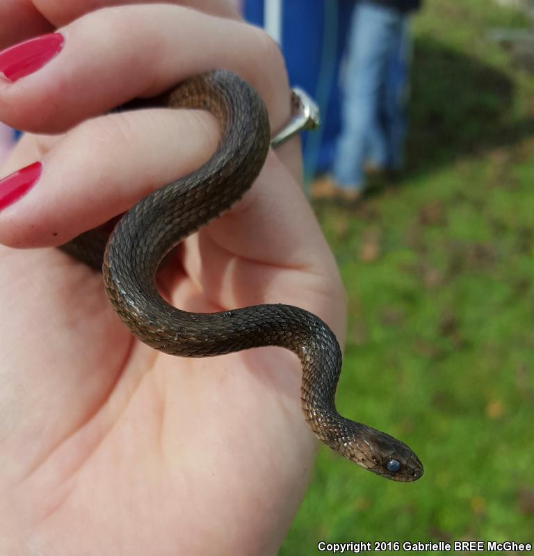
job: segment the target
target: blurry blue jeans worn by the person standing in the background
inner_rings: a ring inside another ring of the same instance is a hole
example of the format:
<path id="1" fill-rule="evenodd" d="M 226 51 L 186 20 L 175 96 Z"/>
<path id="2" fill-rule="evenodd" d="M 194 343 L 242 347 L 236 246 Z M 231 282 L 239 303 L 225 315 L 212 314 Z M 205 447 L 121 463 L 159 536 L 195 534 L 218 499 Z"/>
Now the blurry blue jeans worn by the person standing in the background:
<path id="1" fill-rule="evenodd" d="M 346 51 L 342 129 L 334 179 L 364 188 L 364 163 L 398 169 L 406 131 L 410 35 L 408 17 L 361 0 L 353 10 Z"/>

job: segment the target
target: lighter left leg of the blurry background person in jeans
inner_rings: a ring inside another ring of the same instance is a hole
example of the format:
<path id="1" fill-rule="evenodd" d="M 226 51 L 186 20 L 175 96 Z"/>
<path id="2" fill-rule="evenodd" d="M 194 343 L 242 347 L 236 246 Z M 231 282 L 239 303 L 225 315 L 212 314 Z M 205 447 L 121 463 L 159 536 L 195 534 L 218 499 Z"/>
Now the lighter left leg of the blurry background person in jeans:
<path id="1" fill-rule="evenodd" d="M 343 126 L 334 157 L 334 179 L 341 188 L 364 187 L 363 165 L 370 135 L 374 156 L 387 154 L 378 108 L 397 25 L 396 10 L 366 1 L 355 6 L 346 53 Z"/>

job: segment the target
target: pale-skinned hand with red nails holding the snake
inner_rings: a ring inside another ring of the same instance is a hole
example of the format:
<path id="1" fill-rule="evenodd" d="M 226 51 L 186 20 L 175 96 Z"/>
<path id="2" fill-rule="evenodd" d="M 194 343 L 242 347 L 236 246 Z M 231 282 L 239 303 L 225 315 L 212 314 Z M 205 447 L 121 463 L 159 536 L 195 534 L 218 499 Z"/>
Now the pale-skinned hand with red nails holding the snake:
<path id="1" fill-rule="evenodd" d="M 280 54 L 222 0 L 198 3 L 217 17 L 170 4 L 83 16 L 85 1 L 34 3 L 46 17 L 22 14 L 21 3 L 2 8 L 3 21 L 26 26 L 0 35 L 0 48 L 56 26 L 65 44 L 37 72 L 0 80 L 0 120 L 33 132 L 1 175 L 43 165 L 0 212 L 0 552 L 275 553 L 314 457 L 298 359 L 279 348 L 211 359 L 154 352 L 124 329 L 102 277 L 51 247 L 216 148 L 206 113 L 99 114 L 222 67 L 258 90 L 277 131 L 289 120 Z M 343 288 L 299 166 L 296 141 L 271 153 L 243 201 L 181 245 L 161 277 L 173 304 L 293 304 L 343 340 Z"/>

